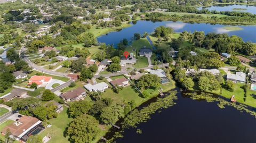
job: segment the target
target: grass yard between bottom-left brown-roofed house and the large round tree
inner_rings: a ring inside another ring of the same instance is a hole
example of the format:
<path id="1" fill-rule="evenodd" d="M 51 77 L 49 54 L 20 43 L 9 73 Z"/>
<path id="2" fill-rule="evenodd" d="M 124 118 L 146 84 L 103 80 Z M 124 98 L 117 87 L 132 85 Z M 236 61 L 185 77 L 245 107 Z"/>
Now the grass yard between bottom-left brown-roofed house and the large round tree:
<path id="1" fill-rule="evenodd" d="M 50 122 L 52 126 L 50 128 L 46 128 L 43 132 L 39 134 L 39 136 L 41 136 L 42 138 L 49 135 L 51 137 L 51 140 L 49 140 L 48 143 L 69 143 L 69 137 L 64 137 L 63 133 L 68 127 L 69 122 L 71 122 L 73 119 L 68 117 L 67 107 L 63 106 L 63 108 L 63 111 L 60 112 L 57 118 L 47 121 Z"/>

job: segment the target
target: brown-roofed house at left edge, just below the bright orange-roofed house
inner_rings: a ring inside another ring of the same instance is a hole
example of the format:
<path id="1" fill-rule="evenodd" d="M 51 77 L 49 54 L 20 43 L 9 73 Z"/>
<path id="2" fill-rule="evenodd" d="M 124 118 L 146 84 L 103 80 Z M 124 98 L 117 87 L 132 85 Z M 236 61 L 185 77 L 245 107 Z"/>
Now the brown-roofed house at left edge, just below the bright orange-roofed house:
<path id="1" fill-rule="evenodd" d="M 11 92 L 9 92 L 8 94 L 1 96 L 0 98 L 4 100 L 4 102 L 9 102 L 10 100 L 12 100 L 15 97 L 22 97 L 22 96 L 26 96 L 27 95 L 27 91 L 23 90 L 23 89 L 19 89 L 19 88 L 14 88 L 12 89 Z"/>

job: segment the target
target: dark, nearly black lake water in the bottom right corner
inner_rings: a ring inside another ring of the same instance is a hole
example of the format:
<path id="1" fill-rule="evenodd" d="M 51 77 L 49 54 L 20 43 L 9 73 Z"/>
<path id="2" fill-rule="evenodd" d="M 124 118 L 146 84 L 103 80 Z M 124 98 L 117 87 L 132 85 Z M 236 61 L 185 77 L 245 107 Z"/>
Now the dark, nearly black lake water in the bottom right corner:
<path id="1" fill-rule="evenodd" d="M 124 131 L 116 142 L 255 142 L 256 119 L 247 113 L 216 103 L 178 95 L 177 105 L 155 113 L 146 123 Z"/>

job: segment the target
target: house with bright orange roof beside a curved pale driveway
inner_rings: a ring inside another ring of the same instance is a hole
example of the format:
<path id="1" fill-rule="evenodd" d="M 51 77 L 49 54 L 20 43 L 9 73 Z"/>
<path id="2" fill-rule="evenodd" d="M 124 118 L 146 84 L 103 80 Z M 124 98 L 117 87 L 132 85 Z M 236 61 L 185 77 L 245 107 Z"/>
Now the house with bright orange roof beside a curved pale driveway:
<path id="1" fill-rule="evenodd" d="M 34 75 L 28 79 L 28 85 L 31 85 L 33 82 L 37 84 L 38 87 L 46 86 L 52 80 L 52 77 L 46 77 L 44 75 Z"/>

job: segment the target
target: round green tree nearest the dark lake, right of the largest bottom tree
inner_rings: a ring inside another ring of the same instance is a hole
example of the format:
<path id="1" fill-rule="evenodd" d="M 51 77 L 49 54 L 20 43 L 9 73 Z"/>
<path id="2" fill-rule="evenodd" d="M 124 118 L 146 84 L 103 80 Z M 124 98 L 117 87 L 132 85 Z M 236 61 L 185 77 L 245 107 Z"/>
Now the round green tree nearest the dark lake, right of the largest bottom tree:
<path id="1" fill-rule="evenodd" d="M 121 111 L 122 107 L 116 104 L 105 107 L 102 109 L 100 120 L 105 124 L 114 124 L 120 117 L 122 117 Z"/>

